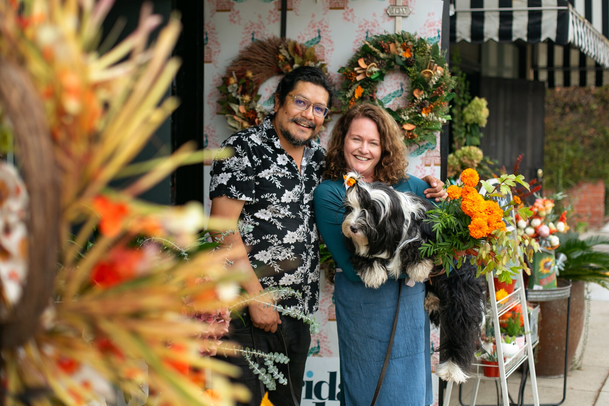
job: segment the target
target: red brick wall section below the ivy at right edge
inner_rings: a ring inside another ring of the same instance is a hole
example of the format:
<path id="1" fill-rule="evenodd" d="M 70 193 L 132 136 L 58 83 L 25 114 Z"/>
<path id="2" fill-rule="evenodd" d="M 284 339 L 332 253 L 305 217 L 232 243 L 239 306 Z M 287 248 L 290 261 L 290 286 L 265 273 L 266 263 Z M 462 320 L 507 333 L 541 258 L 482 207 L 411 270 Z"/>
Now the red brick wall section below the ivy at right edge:
<path id="1" fill-rule="evenodd" d="M 574 215 L 567 219 L 569 226 L 574 227 L 579 221 L 585 221 L 589 227 L 600 228 L 605 225 L 605 182 L 580 182 L 567 192 Z"/>

